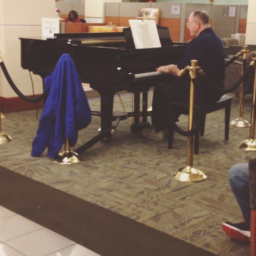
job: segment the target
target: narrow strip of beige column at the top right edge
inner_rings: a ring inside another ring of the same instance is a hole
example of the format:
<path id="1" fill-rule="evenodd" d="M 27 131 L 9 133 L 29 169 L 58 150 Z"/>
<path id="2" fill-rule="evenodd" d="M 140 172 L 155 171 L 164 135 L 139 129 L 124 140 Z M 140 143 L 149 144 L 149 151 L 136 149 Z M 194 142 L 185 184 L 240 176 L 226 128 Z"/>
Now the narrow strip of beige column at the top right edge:
<path id="1" fill-rule="evenodd" d="M 256 1 L 249 0 L 245 44 L 256 45 Z"/>

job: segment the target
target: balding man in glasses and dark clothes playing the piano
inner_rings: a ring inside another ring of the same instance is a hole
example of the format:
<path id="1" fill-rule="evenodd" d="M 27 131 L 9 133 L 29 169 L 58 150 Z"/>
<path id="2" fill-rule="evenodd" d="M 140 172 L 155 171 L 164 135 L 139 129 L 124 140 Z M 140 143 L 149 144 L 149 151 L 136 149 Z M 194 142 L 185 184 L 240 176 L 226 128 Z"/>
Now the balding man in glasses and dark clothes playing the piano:
<path id="1" fill-rule="evenodd" d="M 219 87 L 224 88 L 225 75 L 225 54 L 222 41 L 213 32 L 209 24 L 209 15 L 205 10 L 195 10 L 188 18 L 187 23 L 190 35 L 193 39 L 188 44 L 184 55 L 177 65 L 160 66 L 158 72 L 169 73 L 171 80 L 181 69 L 191 65 L 191 60 L 198 60 L 198 66 L 204 71 L 206 76 Z M 165 128 L 168 127 L 167 101 L 170 84 L 156 86 L 152 101 L 152 126 L 150 129 L 143 129 L 145 138 L 162 141 L 166 136 Z M 205 102 L 216 102 L 223 95 L 220 90 L 213 88 L 207 83 L 203 83 L 203 96 Z M 175 92 L 175 102 L 189 103 L 190 76 L 186 74 L 180 79 Z M 180 114 L 175 113 L 178 118 Z"/>

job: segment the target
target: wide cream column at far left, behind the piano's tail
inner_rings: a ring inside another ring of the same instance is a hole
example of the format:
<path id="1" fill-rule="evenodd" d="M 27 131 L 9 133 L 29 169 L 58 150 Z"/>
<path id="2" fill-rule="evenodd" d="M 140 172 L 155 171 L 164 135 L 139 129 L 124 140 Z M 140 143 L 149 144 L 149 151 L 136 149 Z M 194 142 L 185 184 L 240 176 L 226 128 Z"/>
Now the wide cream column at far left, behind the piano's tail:
<path id="1" fill-rule="evenodd" d="M 28 70 L 21 68 L 19 37 L 42 35 L 42 18 L 55 18 L 55 0 L 0 0 L 0 56 L 20 91 L 32 94 Z M 40 49 L 38 49 L 40 51 Z M 33 75 L 35 94 L 42 93 L 42 79 Z M 17 97 L 0 69 L 0 96 Z"/>

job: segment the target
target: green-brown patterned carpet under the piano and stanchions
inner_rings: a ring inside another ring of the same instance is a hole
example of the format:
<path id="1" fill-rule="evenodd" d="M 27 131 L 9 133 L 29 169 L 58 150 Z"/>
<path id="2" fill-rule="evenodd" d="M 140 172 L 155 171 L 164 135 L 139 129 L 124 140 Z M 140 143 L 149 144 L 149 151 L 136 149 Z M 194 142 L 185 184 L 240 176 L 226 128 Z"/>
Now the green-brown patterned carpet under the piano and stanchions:
<path id="1" fill-rule="evenodd" d="M 130 111 L 131 95 L 121 97 L 126 111 Z M 231 120 L 239 115 L 238 101 L 232 101 Z M 245 97 L 244 117 L 248 120 L 251 101 L 251 95 Z M 99 110 L 98 98 L 90 99 L 89 103 L 91 109 Z M 122 110 L 118 97 L 114 109 Z M 180 117 L 180 126 L 186 127 L 186 118 Z M 250 128 L 231 126 L 229 141 L 224 141 L 224 110 L 206 117 L 205 135 L 200 138 L 199 154 L 194 155 L 193 165 L 208 178 L 197 183 L 172 177 L 178 168 L 186 166 L 187 160 L 187 139 L 178 134 L 174 134 L 173 149 L 168 150 L 167 141 L 154 142 L 141 134 L 131 134 L 130 123 L 123 120 L 111 143 L 98 142 L 80 155 L 82 162 L 68 166 L 54 164 L 46 152 L 40 158 L 30 156 L 38 127 L 35 110 L 9 113 L 1 122 L 2 132 L 14 138 L 0 145 L 3 167 L 219 256 L 249 255 L 250 244 L 230 239 L 221 224 L 225 220 L 242 220 L 228 184 L 228 170 L 233 164 L 248 161 L 255 153 L 237 148 L 249 137 Z M 99 125 L 100 119 L 94 116 L 88 128 L 79 132 L 76 148 L 95 136 Z"/>

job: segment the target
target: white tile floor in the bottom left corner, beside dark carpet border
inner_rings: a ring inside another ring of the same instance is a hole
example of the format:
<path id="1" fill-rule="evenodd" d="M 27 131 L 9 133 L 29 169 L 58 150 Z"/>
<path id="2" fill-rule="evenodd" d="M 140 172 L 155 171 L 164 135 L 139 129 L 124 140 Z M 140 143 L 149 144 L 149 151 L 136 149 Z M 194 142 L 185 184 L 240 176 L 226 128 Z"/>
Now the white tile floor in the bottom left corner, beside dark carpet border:
<path id="1" fill-rule="evenodd" d="M 0 256 L 99 256 L 0 206 Z"/>

